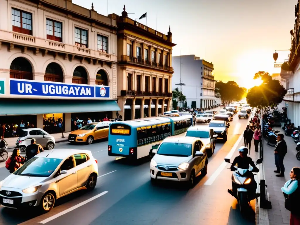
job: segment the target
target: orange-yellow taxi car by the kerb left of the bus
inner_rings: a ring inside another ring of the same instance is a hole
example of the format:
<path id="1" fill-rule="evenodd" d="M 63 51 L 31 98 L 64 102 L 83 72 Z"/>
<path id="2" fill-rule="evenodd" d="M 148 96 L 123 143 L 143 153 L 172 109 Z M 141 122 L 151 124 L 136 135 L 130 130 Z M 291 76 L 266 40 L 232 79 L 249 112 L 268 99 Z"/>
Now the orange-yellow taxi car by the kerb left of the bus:
<path id="1" fill-rule="evenodd" d="M 86 142 L 91 144 L 94 140 L 108 138 L 109 126 L 113 122 L 94 122 L 87 124 L 69 134 L 69 142 Z"/>

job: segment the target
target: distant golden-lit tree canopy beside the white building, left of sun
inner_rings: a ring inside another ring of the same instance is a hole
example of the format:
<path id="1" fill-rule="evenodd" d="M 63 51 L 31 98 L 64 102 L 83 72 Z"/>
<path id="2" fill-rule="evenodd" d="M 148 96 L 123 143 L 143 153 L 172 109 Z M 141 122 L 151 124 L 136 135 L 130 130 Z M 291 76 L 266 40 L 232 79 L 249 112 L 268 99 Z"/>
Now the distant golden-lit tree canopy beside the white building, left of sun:
<path id="1" fill-rule="evenodd" d="M 215 89 L 220 94 L 223 103 L 240 101 L 245 93 L 245 88 L 239 87 L 234 81 L 216 82 Z"/>

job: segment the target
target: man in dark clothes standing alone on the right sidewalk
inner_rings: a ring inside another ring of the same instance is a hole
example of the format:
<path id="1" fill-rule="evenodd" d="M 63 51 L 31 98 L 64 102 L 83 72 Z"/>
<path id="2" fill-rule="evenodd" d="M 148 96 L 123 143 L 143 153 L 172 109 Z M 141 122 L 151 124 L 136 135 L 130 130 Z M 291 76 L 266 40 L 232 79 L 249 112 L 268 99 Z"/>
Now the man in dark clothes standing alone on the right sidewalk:
<path id="1" fill-rule="evenodd" d="M 274 170 L 274 173 L 280 173 L 276 175 L 277 177 L 284 176 L 284 165 L 283 158 L 287 153 L 287 146 L 285 140 L 283 140 L 284 135 L 277 135 L 277 144 L 275 145 L 274 155 L 275 155 L 275 165 L 277 170 Z"/>

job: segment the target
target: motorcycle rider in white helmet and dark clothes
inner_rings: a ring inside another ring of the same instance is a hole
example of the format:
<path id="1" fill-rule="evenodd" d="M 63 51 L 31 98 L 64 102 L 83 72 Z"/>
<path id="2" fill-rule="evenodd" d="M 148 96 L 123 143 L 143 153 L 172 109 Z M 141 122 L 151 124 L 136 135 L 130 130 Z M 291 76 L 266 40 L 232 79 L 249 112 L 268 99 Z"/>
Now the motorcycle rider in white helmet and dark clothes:
<path id="1" fill-rule="evenodd" d="M 248 148 L 241 146 L 238 149 L 239 152 L 239 156 L 235 157 L 235 159 L 232 162 L 232 165 L 230 167 L 231 171 L 235 171 L 236 169 L 234 168 L 234 166 L 237 166 L 238 168 L 241 169 L 249 169 L 249 164 L 253 167 L 253 170 L 255 171 L 255 164 L 252 160 L 251 157 L 247 156 L 248 155 Z M 254 179 L 254 175 L 251 171 L 247 171 L 245 174 L 245 176 L 249 177 L 251 179 L 250 184 L 247 185 L 247 189 L 249 190 L 250 193 L 256 194 L 256 187 L 257 187 L 257 183 Z M 235 183 L 232 183 L 232 195 L 235 196 L 236 195 L 236 187 L 235 187 Z"/>

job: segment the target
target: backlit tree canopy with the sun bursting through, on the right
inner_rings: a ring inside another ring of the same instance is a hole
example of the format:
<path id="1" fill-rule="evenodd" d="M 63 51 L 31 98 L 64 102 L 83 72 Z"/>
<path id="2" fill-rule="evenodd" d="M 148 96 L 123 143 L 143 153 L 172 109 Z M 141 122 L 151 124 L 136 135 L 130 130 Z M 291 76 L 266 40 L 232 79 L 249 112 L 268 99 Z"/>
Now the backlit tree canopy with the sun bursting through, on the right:
<path id="1" fill-rule="evenodd" d="M 262 79 L 262 84 L 250 88 L 247 93 L 247 103 L 251 107 L 270 107 L 276 106 L 286 94 L 286 89 L 278 80 L 273 80 L 268 72 L 259 71 L 255 73 L 253 79 Z"/>

